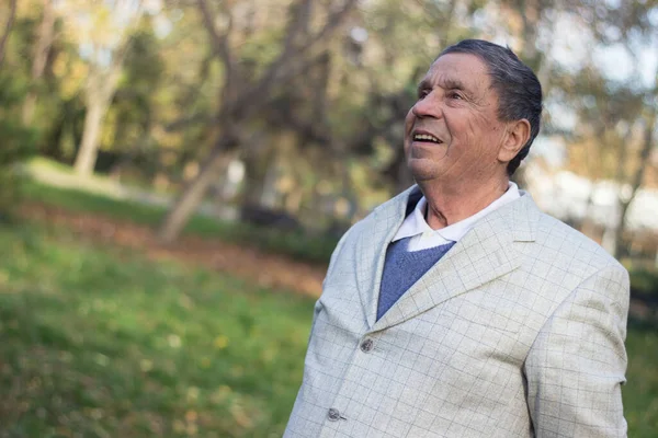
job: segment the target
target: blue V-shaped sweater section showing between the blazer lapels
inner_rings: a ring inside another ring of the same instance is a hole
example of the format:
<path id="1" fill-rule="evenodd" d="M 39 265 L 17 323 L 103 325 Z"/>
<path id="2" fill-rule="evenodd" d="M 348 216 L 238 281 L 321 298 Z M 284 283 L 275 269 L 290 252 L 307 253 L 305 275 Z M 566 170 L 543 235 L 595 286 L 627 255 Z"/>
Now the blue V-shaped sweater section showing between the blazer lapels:
<path id="1" fill-rule="evenodd" d="M 377 320 L 436 262 L 453 247 L 455 242 L 421 251 L 407 251 L 411 238 L 400 239 L 388 245 L 384 274 L 379 288 Z"/>

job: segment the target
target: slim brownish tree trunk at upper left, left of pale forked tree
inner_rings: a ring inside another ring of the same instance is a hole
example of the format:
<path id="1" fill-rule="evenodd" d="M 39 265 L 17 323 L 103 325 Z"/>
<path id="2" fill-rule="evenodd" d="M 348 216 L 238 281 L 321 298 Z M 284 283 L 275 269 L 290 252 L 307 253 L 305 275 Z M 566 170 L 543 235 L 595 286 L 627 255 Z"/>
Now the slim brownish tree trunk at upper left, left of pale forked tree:
<path id="1" fill-rule="evenodd" d="M 34 108 L 37 100 L 35 83 L 44 74 L 54 38 L 55 11 L 53 9 L 53 0 L 44 0 L 44 15 L 38 28 L 38 39 L 34 50 L 34 62 L 32 64 L 32 84 L 23 103 L 23 124 L 25 125 L 32 123 L 32 118 L 34 117 Z"/>

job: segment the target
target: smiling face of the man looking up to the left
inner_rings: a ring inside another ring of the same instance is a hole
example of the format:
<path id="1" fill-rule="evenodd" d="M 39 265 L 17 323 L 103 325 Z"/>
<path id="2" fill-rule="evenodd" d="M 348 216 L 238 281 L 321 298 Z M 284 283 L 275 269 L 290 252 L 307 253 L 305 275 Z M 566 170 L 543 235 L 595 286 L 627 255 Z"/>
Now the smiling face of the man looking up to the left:
<path id="1" fill-rule="evenodd" d="M 504 163 L 497 158 L 506 124 L 497 112 L 497 93 L 478 57 L 449 54 L 436 59 L 406 118 L 405 153 L 416 181 L 467 186 L 500 172 Z"/>

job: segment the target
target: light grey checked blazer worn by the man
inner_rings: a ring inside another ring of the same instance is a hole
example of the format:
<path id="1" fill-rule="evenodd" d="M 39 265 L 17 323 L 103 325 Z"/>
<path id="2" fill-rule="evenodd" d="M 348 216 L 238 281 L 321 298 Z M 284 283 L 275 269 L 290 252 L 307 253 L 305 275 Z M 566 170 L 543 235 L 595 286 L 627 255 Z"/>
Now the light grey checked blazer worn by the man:
<path id="1" fill-rule="evenodd" d="M 622 437 L 628 276 L 522 192 L 376 321 L 411 187 L 339 242 L 285 437 Z"/>

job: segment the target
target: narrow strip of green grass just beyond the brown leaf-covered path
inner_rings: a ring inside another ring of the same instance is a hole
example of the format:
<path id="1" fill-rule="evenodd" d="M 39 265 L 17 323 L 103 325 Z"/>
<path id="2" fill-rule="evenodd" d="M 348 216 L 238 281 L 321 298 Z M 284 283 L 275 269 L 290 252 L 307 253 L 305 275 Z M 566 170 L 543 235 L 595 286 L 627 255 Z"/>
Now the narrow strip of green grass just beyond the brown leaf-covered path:
<path id="1" fill-rule="evenodd" d="M 63 207 L 70 211 L 101 214 L 151 227 L 157 227 L 166 214 L 162 207 L 112 199 L 77 189 L 52 187 L 34 181 L 26 182 L 23 193 L 27 200 Z M 219 238 L 226 242 L 257 246 L 272 253 L 320 264 L 329 262 L 338 243 L 336 238 L 224 222 L 201 215 L 194 216 L 183 232 Z"/>

